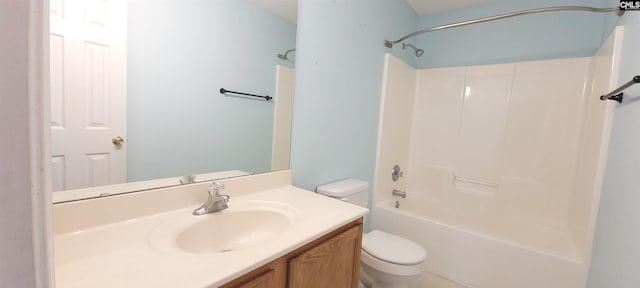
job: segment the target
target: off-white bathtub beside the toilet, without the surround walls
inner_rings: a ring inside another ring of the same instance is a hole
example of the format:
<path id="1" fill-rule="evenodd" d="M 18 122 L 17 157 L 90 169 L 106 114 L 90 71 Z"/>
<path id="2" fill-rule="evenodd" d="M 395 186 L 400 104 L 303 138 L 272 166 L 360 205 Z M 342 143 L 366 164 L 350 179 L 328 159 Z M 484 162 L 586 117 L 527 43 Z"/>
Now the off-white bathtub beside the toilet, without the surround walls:
<path id="1" fill-rule="evenodd" d="M 427 251 L 429 272 L 473 288 L 583 288 L 588 265 L 571 233 L 491 217 L 465 217 L 428 199 L 377 203 L 372 228 Z M 419 209 L 418 209 L 419 208 Z"/>

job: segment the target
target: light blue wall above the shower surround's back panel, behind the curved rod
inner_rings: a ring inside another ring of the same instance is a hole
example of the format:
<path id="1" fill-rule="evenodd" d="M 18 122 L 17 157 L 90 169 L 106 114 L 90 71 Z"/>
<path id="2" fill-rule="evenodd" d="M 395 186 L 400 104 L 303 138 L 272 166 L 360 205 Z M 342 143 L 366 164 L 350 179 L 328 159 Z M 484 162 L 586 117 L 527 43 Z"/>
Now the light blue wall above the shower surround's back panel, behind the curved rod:
<path id="1" fill-rule="evenodd" d="M 550 6 L 608 7 L 603 0 L 502 0 L 420 17 L 419 29 Z M 615 6 L 615 5 L 612 5 Z M 423 34 L 417 68 L 506 63 L 591 56 L 600 48 L 605 19 L 615 14 L 551 12 Z M 419 30 L 418 29 L 418 30 Z M 607 33 L 608 35 L 608 33 Z"/>

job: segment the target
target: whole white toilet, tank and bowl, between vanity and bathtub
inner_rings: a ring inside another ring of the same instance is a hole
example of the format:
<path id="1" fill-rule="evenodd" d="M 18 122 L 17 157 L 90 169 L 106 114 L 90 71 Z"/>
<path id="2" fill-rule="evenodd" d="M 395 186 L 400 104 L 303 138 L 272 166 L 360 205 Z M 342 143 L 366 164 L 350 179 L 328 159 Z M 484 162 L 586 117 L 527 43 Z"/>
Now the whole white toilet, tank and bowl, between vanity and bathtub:
<path id="1" fill-rule="evenodd" d="M 367 207 L 369 183 L 347 179 L 319 186 L 322 195 Z M 408 288 L 425 270 L 427 254 L 420 245 L 379 230 L 362 238 L 360 280 L 372 288 Z"/>

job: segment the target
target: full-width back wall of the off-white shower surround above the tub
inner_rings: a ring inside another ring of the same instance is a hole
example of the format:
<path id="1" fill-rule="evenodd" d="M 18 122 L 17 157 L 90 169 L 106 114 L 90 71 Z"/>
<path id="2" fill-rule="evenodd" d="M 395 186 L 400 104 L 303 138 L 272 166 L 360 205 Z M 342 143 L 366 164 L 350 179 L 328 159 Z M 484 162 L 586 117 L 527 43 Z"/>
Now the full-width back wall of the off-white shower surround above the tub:
<path id="1" fill-rule="evenodd" d="M 408 190 L 461 218 L 565 228 L 589 61 L 418 71 Z"/>

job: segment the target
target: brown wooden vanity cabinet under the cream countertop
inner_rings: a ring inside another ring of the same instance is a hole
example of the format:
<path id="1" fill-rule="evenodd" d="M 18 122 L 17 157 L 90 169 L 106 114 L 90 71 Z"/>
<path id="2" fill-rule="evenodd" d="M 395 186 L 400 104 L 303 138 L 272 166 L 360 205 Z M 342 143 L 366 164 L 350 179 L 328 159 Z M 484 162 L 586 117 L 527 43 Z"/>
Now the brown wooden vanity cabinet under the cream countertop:
<path id="1" fill-rule="evenodd" d="M 357 288 L 361 247 L 359 219 L 222 288 Z"/>

